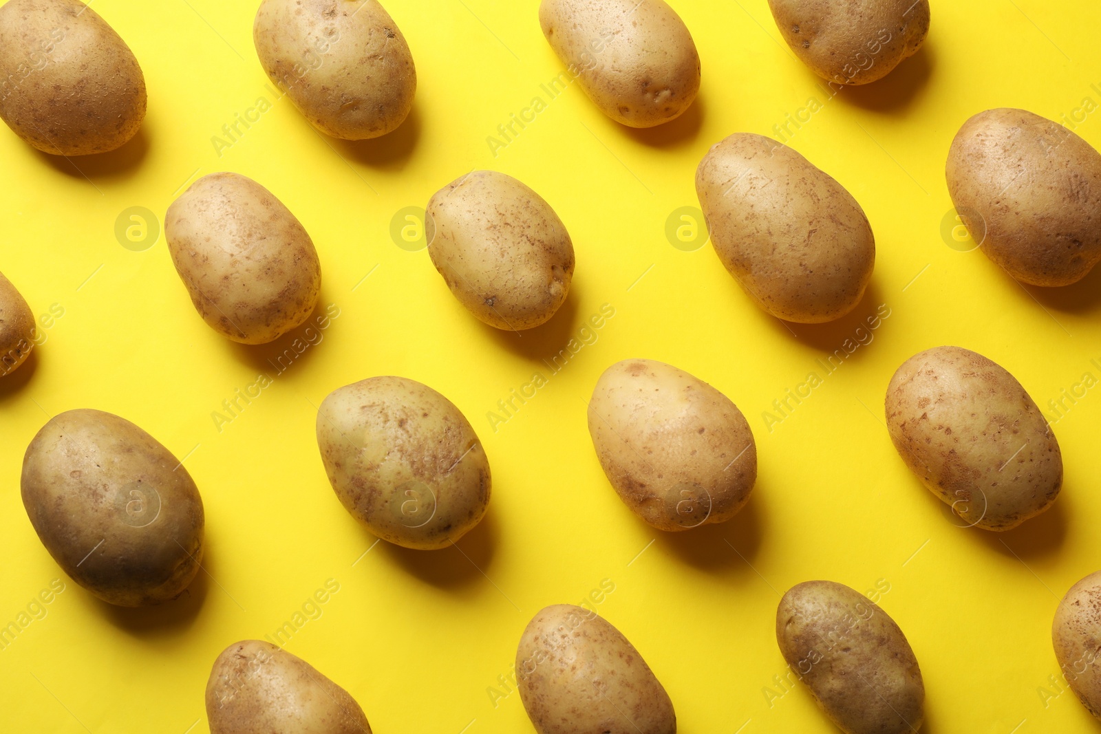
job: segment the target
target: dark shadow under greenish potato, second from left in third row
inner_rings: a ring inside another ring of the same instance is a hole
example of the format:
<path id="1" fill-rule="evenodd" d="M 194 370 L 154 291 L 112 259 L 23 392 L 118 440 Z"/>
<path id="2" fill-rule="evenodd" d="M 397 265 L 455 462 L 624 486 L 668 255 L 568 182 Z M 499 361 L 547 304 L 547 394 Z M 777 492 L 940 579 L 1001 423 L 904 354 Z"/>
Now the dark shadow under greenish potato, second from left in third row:
<path id="1" fill-rule="evenodd" d="M 422 581 L 440 589 L 457 589 L 488 578 L 483 573 L 493 562 L 499 540 L 497 516 L 490 504 L 481 522 L 446 548 L 415 550 L 385 540 L 380 547 L 383 555 Z"/>

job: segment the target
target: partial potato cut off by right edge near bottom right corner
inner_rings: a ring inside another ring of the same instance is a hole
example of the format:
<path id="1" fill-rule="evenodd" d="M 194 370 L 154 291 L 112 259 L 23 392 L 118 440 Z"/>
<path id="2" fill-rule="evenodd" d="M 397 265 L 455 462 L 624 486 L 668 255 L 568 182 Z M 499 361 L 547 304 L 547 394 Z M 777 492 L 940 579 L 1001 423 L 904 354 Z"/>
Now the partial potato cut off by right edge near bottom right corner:
<path id="1" fill-rule="evenodd" d="M 1076 583 L 1059 602 L 1051 645 L 1062 677 L 1082 705 L 1101 719 L 1101 571 Z"/>

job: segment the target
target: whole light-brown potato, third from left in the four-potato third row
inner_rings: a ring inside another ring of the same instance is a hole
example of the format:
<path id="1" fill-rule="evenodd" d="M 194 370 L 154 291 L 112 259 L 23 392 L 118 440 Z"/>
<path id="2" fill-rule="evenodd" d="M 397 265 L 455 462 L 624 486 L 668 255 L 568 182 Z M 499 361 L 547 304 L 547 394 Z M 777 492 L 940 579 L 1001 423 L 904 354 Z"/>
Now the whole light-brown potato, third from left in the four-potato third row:
<path id="1" fill-rule="evenodd" d="M 756 481 L 756 443 L 738 406 L 663 362 L 604 370 L 589 402 L 589 435 L 620 499 L 661 530 L 727 522 Z"/>

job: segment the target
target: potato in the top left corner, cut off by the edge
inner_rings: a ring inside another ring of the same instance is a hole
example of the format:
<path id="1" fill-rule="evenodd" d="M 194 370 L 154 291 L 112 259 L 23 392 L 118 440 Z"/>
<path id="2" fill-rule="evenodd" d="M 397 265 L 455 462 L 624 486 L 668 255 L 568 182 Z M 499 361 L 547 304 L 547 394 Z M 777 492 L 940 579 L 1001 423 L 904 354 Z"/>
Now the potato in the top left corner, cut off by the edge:
<path id="1" fill-rule="evenodd" d="M 0 8 L 0 118 L 44 153 L 113 151 L 145 119 L 145 77 L 83 2 L 10 0 Z"/>

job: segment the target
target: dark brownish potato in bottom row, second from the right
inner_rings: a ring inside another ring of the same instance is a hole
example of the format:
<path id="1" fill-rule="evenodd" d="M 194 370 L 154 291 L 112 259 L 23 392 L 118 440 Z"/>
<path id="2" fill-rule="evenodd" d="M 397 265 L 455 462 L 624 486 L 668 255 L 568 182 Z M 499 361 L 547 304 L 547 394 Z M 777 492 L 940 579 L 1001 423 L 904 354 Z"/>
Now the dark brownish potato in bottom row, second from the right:
<path id="1" fill-rule="evenodd" d="M 818 705 L 846 734 L 916 732 L 925 683 L 886 612 L 833 581 L 792 587 L 776 609 L 776 643 Z"/>

